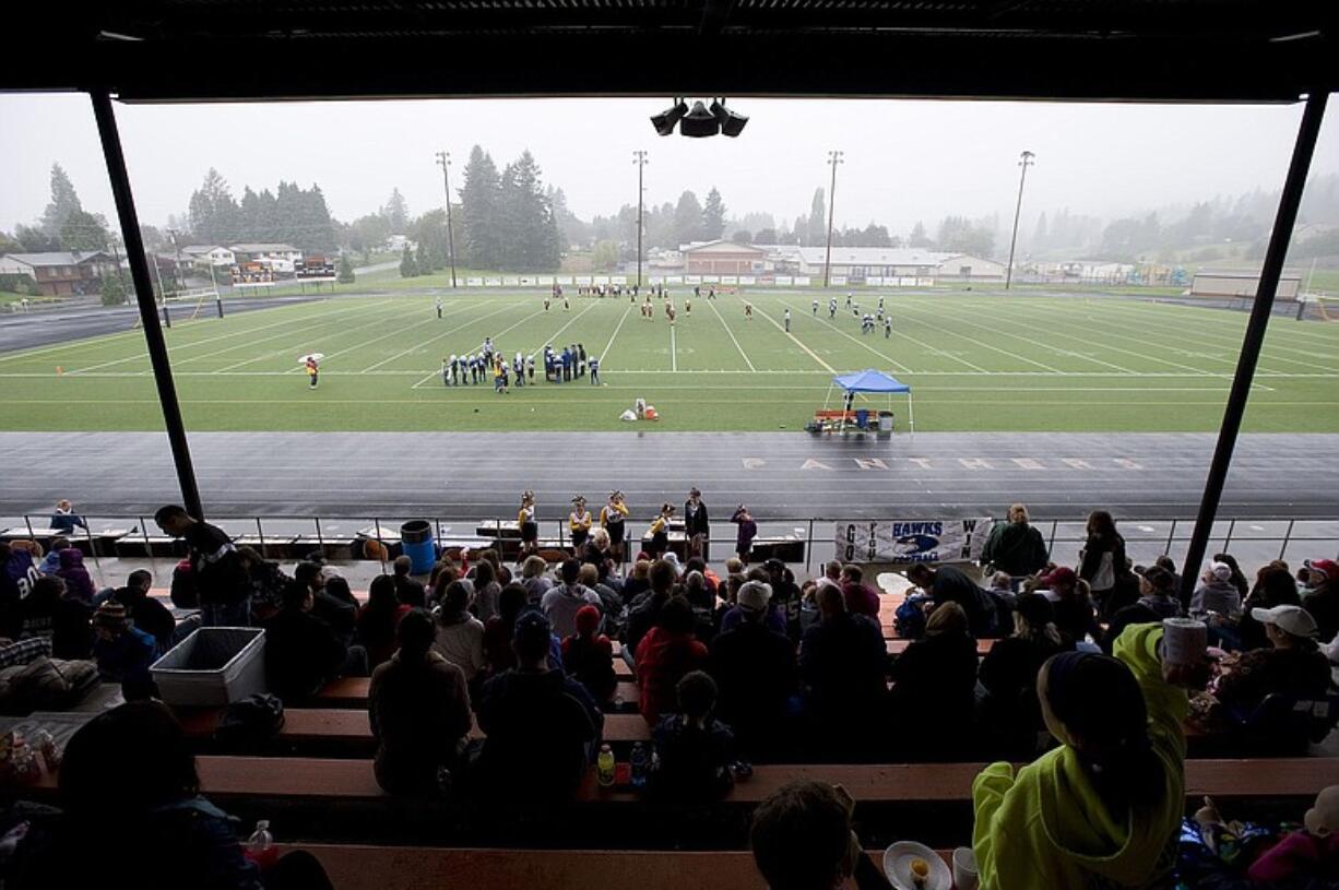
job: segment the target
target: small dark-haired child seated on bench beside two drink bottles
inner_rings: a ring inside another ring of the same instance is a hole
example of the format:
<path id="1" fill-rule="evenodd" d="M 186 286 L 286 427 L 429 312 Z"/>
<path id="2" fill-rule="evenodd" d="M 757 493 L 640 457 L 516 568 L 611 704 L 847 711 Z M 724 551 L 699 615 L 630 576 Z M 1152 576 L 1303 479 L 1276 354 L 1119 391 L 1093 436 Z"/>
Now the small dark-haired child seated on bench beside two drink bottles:
<path id="1" fill-rule="evenodd" d="M 734 786 L 731 772 L 735 736 L 712 717 L 716 683 L 703 671 L 691 671 L 675 687 L 679 707 L 652 732 L 657 763 L 651 790 L 657 798 L 707 803 Z"/>

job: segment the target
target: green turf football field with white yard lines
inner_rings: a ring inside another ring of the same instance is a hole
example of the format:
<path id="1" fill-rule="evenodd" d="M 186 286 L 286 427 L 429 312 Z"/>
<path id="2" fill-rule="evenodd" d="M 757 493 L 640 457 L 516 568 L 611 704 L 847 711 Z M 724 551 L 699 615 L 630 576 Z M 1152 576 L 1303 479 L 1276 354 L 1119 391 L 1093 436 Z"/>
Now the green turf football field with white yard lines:
<path id="1" fill-rule="evenodd" d="M 445 292 L 438 320 L 432 292 L 340 294 L 165 333 L 191 430 L 629 430 L 619 415 L 637 396 L 663 418 L 640 430 L 801 430 L 834 372 L 880 368 L 913 387 L 920 431 L 1198 431 L 1217 428 L 1247 321 L 1119 297 L 923 292 L 889 293 L 892 337 L 862 336 L 834 293 L 832 321 L 825 294 L 781 290 L 749 293 L 746 320 L 740 296 L 688 313 L 679 288 L 672 327 L 660 301 L 648 321 L 627 297 L 546 312 L 533 290 Z M 485 336 L 507 356 L 580 341 L 604 383 L 443 387 L 441 360 Z M 308 351 L 325 353 L 316 391 L 296 361 Z M 4 430 L 162 426 L 139 331 L 0 355 L 0 381 Z M 893 410 L 905 428 L 905 397 Z M 1339 431 L 1339 324 L 1271 321 L 1245 426 Z"/>

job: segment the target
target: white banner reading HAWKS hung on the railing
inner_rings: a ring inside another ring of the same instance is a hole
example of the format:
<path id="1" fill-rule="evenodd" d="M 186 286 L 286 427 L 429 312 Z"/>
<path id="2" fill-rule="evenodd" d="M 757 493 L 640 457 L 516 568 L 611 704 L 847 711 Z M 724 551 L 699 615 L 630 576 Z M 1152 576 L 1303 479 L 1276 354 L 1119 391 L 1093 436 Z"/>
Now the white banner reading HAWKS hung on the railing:
<path id="1" fill-rule="evenodd" d="M 890 519 L 838 522 L 833 529 L 841 562 L 972 562 L 991 533 L 990 517 L 979 519 Z"/>

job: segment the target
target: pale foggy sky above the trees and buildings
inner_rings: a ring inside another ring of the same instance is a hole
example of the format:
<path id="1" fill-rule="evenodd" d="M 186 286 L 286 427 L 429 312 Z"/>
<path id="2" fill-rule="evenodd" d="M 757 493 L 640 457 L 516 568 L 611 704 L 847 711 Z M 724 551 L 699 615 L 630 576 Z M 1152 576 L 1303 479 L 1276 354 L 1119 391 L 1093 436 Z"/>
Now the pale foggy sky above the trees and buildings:
<path id="1" fill-rule="evenodd" d="M 636 203 L 632 151 L 645 149 L 647 201 L 720 189 L 731 215 L 807 214 L 837 174 L 838 226 L 869 221 L 905 234 L 949 213 L 1012 214 L 1018 154 L 1028 171 L 1024 226 L 1069 207 L 1102 217 L 1281 186 L 1302 106 L 1129 106 L 1007 102 L 738 99 L 751 119 L 738 139 L 659 138 L 657 99 L 470 99 L 197 106 L 116 106 L 142 222 L 183 213 L 208 167 L 242 186 L 320 183 L 331 214 L 374 213 L 399 186 L 414 214 L 441 206 L 434 153 L 451 153 L 453 190 L 474 143 L 501 167 L 529 149 L 544 181 L 581 218 Z M 1330 114 L 1312 173 L 1339 171 L 1339 114 Z M 115 222 L 92 111 L 83 95 L 0 95 L 0 229 L 32 224 L 59 161 L 84 209 Z"/>

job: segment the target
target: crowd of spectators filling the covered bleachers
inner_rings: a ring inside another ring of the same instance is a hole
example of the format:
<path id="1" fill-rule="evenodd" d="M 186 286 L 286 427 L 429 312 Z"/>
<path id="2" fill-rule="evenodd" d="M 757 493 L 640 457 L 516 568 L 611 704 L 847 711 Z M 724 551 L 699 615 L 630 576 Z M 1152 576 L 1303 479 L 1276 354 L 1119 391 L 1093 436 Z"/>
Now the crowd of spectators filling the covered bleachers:
<path id="1" fill-rule="evenodd" d="M 396 561 L 360 605 L 327 566 L 301 562 L 288 577 L 179 509 L 157 518 L 187 542 L 200 621 L 265 629 L 269 688 L 285 703 L 335 677 L 372 677 L 375 771 L 392 795 L 461 794 L 509 819 L 550 816 L 595 762 L 624 658 L 661 798 L 718 798 L 749 762 L 1000 758 L 973 784 L 973 850 L 994 887 L 1153 886 L 1182 814 L 1186 723 L 1259 729 L 1280 701 L 1326 700 L 1339 656 L 1339 563 L 1273 561 L 1252 582 L 1214 554 L 1182 597 L 1170 559 L 1134 565 L 1101 511 L 1074 567 L 1046 553 L 1020 505 L 991 533 L 984 585 L 961 567 L 911 566 L 897 626 L 912 640 L 896 657 L 892 609 L 856 565 L 801 582 L 778 559 L 750 567 L 747 551 L 720 575 L 700 555 L 667 553 L 639 554 L 624 573 L 596 529 L 552 567 L 529 554 L 513 573 L 485 551 L 443 559 L 424 588 Z M 98 592 L 78 559 L 39 563 L 12 545 L 0 545 L 0 566 L 4 633 L 94 658 L 127 700 L 153 697 L 149 665 L 195 626 L 149 596 L 143 571 Z M 1162 662 L 1160 622 L 1176 617 L 1208 625 L 1216 665 Z M 175 744 L 158 705 L 127 707 L 139 709 L 121 720 Z M 482 737 L 470 740 L 475 723 Z M 193 799 L 193 786 L 163 794 Z M 821 783 L 766 802 L 751 835 L 763 877 L 866 886 L 850 814 L 849 796 Z M 230 858 L 216 842 L 212 855 Z"/>

